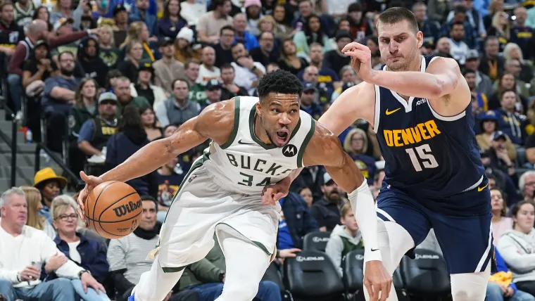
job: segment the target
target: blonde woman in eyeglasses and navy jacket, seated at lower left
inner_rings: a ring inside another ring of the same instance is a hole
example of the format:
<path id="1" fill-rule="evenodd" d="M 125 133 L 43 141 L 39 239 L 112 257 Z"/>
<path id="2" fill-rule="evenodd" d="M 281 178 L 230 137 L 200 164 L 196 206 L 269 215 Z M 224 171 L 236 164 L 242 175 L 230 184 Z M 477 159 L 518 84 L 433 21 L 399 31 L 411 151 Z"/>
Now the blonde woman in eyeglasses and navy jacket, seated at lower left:
<path id="1" fill-rule="evenodd" d="M 61 255 L 65 255 L 68 260 L 89 271 L 96 281 L 103 283 L 110 267 L 106 260 L 107 248 L 98 241 L 77 233 L 78 214 L 76 207 L 75 200 L 65 195 L 58 196 L 52 201 L 52 222 L 58 232 L 58 236 L 54 238 L 54 243 L 56 243 L 58 250 L 63 253 Z M 49 273 L 47 279 L 57 278 L 51 269 L 47 269 L 47 266 L 45 266 L 45 270 Z M 75 279 L 72 283 L 76 293 L 84 301 L 110 300 L 104 291 L 88 288 L 87 293 L 84 292 L 80 279 Z"/>

